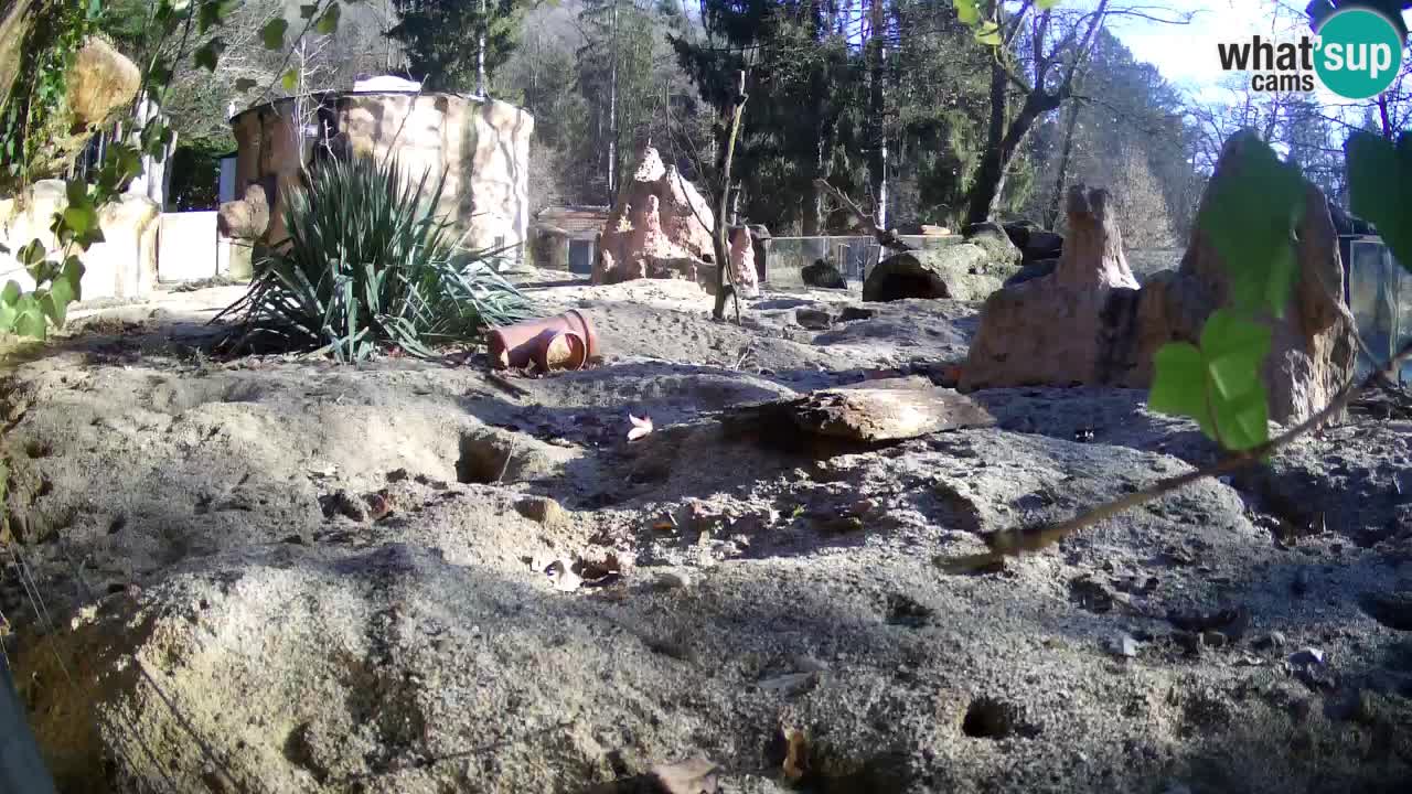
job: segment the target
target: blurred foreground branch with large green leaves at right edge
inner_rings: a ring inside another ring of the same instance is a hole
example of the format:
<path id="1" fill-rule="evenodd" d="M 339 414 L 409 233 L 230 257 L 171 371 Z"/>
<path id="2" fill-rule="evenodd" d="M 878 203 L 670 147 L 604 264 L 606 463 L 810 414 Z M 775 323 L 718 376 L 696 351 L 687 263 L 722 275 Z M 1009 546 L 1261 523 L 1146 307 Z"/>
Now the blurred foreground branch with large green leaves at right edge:
<path id="1" fill-rule="evenodd" d="M 1394 144 L 1360 131 L 1350 137 L 1346 150 L 1353 211 L 1377 225 L 1392 256 L 1412 271 L 1412 235 L 1408 233 L 1412 227 L 1412 189 L 1406 181 L 1412 175 L 1412 137 L 1404 134 Z M 1216 202 L 1223 213 L 1207 215 L 1202 226 L 1217 244 L 1223 260 L 1231 266 L 1233 302 L 1244 307 L 1244 311 L 1223 308 L 1213 312 L 1202 329 L 1200 348 L 1185 342 L 1161 348 L 1154 360 L 1156 374 L 1148 401 L 1154 410 L 1195 418 L 1207 437 L 1231 454 L 1210 466 L 1159 480 L 1067 521 L 997 533 L 987 538 L 988 552 L 939 559 L 943 569 L 974 571 L 994 565 L 1004 557 L 1048 548 L 1099 521 L 1204 478 L 1228 475 L 1260 462 L 1320 428 L 1365 389 L 1385 379 L 1387 372 L 1396 372 L 1412 360 L 1412 343 L 1408 343 L 1391 360 L 1374 367 L 1363 383 L 1346 384 L 1322 411 L 1284 434 L 1268 438 L 1268 424 L 1257 420 L 1268 413 L 1260 366 L 1269 350 L 1269 331 L 1248 316 L 1261 309 L 1278 316 L 1298 277 L 1296 270 L 1286 267 L 1284 261 L 1286 254 L 1293 256 L 1293 229 L 1299 219 L 1298 212 L 1289 208 L 1302 201 L 1303 188 L 1298 170 L 1278 162 L 1274 151 L 1267 150 L 1257 160 L 1264 165 L 1243 172 L 1241 179 L 1233 181 L 1230 196 Z M 1271 161 L 1279 168 L 1269 170 Z M 1289 179 L 1289 174 L 1296 179 Z M 1236 244 L 1233 236 L 1223 235 L 1223 229 L 1257 225 L 1262 225 L 1264 233 L 1245 237 L 1240 244 Z M 1341 305 L 1341 300 L 1336 302 Z M 1351 315 L 1348 319 L 1351 321 Z"/>

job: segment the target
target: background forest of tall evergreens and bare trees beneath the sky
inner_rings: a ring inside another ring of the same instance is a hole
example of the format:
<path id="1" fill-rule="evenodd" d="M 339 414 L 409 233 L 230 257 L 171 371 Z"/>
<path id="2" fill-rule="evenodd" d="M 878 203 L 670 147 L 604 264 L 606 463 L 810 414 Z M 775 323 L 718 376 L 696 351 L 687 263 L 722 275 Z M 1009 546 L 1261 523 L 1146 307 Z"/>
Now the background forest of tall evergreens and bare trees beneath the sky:
<path id="1" fill-rule="evenodd" d="M 104 23 L 137 58 L 151 57 L 145 6 L 113 3 Z M 230 112 L 347 88 L 359 73 L 474 93 L 481 37 L 486 89 L 537 120 L 532 209 L 611 203 L 644 143 L 692 172 L 709 158 L 688 154 L 709 151 L 724 92 L 744 68 L 751 100 L 731 206 L 777 236 L 847 229 L 847 213 L 815 189 L 819 177 L 880 208 L 888 226 L 953 227 L 987 215 L 1055 226 L 1065 186 L 1086 182 L 1118 196 L 1131 246 L 1168 247 L 1189 232 L 1233 131 L 1255 127 L 1343 202 L 1347 131 L 1401 129 L 1401 83 L 1382 107 L 1330 109 L 1240 82 L 1189 96 L 1135 61 L 1111 30 L 1125 20 L 1183 24 L 1179 4 L 1103 3 L 1101 17 L 1066 6 L 1015 25 L 1000 62 L 949 0 L 498 0 L 484 8 L 374 0 L 346 6 L 335 31 L 311 30 L 288 54 L 264 48 L 261 30 L 298 10 L 244 0 L 219 31 L 216 69 L 186 59 L 164 102 L 178 133 L 172 201 L 213 203 L 215 158 L 233 148 Z M 1282 10 L 1271 11 L 1278 27 Z M 291 61 L 294 90 L 280 79 Z M 993 113 L 995 96 L 1003 117 Z"/>

